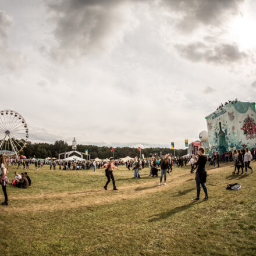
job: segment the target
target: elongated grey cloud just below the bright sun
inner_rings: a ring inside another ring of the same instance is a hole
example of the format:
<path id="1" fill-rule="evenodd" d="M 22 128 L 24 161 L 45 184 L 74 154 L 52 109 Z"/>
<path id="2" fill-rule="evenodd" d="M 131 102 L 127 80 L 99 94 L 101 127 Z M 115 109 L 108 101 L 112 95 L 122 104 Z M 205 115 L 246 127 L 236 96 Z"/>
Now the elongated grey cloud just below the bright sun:
<path id="1" fill-rule="evenodd" d="M 193 62 L 205 61 L 219 64 L 240 62 L 249 56 L 239 50 L 236 44 L 211 45 L 195 42 L 187 45 L 176 45 L 177 51 L 184 58 Z"/>

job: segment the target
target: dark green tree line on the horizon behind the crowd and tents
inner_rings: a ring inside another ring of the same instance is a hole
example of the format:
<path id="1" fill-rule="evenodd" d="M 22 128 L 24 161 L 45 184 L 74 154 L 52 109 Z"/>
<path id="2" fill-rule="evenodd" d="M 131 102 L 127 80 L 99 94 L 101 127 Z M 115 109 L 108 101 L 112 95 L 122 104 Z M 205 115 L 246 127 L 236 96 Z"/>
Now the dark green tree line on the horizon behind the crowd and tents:
<path id="1" fill-rule="evenodd" d="M 99 147 L 97 145 L 77 145 L 77 151 L 85 152 L 88 150 L 88 154 L 91 155 L 91 159 L 100 158 L 105 159 L 112 157 L 111 147 Z M 27 143 L 26 147 L 23 149 L 21 154 L 25 155 L 27 158 L 47 158 L 55 157 L 58 158 L 60 153 L 72 151 L 72 146 L 68 145 L 63 140 L 57 140 L 54 144 L 48 143 Z M 163 155 L 163 154 L 174 154 L 174 150 L 170 148 L 144 148 L 141 149 L 141 156 L 144 155 L 145 158 L 151 157 L 153 155 Z M 175 150 L 176 156 L 186 155 L 187 150 Z M 116 159 L 127 157 L 140 157 L 140 151 L 138 148 L 130 147 L 116 147 L 114 148 L 114 157 Z"/>

